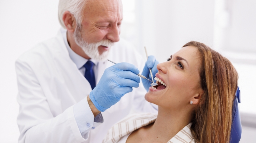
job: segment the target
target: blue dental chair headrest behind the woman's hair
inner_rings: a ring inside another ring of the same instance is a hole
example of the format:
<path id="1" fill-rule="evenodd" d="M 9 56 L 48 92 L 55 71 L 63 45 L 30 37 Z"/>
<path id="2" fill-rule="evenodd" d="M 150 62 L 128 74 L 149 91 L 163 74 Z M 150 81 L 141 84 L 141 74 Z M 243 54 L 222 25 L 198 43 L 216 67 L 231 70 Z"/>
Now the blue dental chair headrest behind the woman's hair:
<path id="1" fill-rule="evenodd" d="M 242 134 L 242 124 L 238 108 L 238 103 L 240 103 L 240 90 L 237 88 L 236 97 L 233 103 L 233 113 L 232 113 L 232 125 L 230 134 L 230 143 L 239 143 Z"/>

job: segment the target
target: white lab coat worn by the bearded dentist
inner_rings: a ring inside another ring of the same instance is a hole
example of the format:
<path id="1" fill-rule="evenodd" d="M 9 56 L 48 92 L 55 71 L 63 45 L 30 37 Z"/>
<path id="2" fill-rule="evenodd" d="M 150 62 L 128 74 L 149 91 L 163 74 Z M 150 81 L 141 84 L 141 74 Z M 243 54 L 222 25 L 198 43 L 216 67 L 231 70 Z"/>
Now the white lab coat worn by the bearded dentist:
<path id="1" fill-rule="evenodd" d="M 108 58 L 117 63 L 132 63 L 140 72 L 144 67 L 140 54 L 122 39 L 112 47 Z M 104 70 L 112 65 L 108 61 L 99 62 L 96 84 Z M 20 56 L 15 66 L 20 105 L 17 118 L 19 143 L 100 143 L 108 129 L 128 115 L 132 107 L 137 111 L 157 112 L 145 101 L 146 90 L 140 83 L 139 88 L 133 88 L 118 103 L 102 112 L 104 123 L 95 125 L 98 126 L 96 129 L 82 137 L 73 105 L 89 95 L 91 87 L 70 59 L 61 33 Z"/>

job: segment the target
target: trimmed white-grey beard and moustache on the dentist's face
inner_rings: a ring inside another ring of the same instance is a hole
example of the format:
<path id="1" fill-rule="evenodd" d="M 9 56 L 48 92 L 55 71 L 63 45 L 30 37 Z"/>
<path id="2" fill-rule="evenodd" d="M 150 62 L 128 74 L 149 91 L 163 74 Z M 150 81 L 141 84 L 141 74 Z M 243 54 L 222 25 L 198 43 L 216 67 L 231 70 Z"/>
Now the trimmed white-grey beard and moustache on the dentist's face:
<path id="1" fill-rule="evenodd" d="M 83 49 L 84 53 L 96 61 L 106 61 L 108 59 L 110 49 L 100 54 L 98 51 L 98 47 L 100 45 L 110 47 L 110 48 L 114 45 L 114 42 L 110 40 L 101 40 L 100 42 L 96 42 L 96 43 L 88 43 L 84 41 L 84 39 L 82 38 L 81 24 L 77 24 L 77 27 L 74 31 L 74 39 L 76 44 Z"/>

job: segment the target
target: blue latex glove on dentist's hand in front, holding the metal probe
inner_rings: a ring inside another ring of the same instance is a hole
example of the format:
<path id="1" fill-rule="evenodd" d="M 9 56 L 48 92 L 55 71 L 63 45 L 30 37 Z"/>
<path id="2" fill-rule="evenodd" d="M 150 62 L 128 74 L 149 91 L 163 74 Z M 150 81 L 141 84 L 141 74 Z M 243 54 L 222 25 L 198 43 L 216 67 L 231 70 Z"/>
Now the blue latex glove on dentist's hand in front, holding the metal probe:
<path id="1" fill-rule="evenodd" d="M 107 68 L 89 95 L 95 107 L 104 112 L 131 92 L 132 87 L 139 87 L 139 72 L 138 68 L 126 62 Z"/>

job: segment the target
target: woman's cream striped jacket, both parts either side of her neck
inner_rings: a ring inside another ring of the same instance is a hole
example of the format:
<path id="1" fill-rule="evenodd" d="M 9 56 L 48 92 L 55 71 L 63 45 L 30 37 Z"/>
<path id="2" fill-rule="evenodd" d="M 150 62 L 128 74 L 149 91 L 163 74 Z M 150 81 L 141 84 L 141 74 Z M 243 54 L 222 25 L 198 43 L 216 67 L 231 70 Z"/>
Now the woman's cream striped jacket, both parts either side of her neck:
<path id="1" fill-rule="evenodd" d="M 157 114 L 153 113 L 130 115 L 112 126 L 102 143 L 118 143 L 118 141 L 125 135 L 153 123 L 156 120 L 156 117 Z M 190 132 L 190 126 L 191 123 L 185 126 L 167 143 L 195 143 L 195 140 Z"/>

